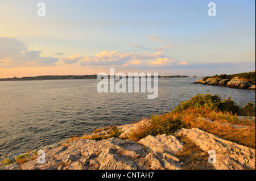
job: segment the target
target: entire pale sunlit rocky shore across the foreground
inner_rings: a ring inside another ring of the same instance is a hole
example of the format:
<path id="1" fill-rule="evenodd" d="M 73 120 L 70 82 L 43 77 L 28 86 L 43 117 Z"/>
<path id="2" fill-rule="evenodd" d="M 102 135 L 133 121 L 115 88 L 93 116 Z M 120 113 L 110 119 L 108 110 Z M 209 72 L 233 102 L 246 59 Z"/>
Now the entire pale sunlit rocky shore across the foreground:
<path id="1" fill-rule="evenodd" d="M 255 121 L 255 117 L 249 119 Z M 174 135 L 148 135 L 138 142 L 128 139 L 129 133 L 138 129 L 139 124 L 148 124 L 150 121 L 142 120 L 119 126 L 117 128 L 122 133 L 118 137 L 106 140 L 89 139 L 87 135 L 41 146 L 32 151 L 24 150 L 2 156 L 0 170 L 181 170 L 186 168 L 188 163 L 185 159 L 181 160 L 179 155 L 185 148 L 189 150 L 187 143 L 181 141 L 181 137 L 191 140 L 198 147 L 199 153 L 196 154 L 199 157 L 204 155 L 206 158 L 200 163 L 193 163 L 202 164 L 202 169 L 255 169 L 255 149 L 224 140 L 198 128 L 182 128 Z M 213 122 L 213 120 L 205 121 Z M 106 135 L 108 131 L 92 133 L 89 136 L 96 134 Z M 45 151 L 46 163 L 38 162 L 39 150 Z M 216 163 L 208 163 L 210 150 L 216 151 Z M 191 152 L 192 155 L 195 154 L 192 150 Z"/>

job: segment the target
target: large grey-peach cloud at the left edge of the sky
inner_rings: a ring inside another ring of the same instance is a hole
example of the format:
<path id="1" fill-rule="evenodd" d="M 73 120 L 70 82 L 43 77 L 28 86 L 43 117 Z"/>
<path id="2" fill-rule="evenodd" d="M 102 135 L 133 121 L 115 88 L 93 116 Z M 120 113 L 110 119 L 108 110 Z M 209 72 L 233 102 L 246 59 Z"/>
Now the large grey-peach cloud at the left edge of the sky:
<path id="1" fill-rule="evenodd" d="M 55 66 L 55 62 L 59 61 L 54 57 L 40 57 L 41 53 L 40 50 L 29 50 L 27 44 L 16 37 L 0 36 L 1 67 Z"/>

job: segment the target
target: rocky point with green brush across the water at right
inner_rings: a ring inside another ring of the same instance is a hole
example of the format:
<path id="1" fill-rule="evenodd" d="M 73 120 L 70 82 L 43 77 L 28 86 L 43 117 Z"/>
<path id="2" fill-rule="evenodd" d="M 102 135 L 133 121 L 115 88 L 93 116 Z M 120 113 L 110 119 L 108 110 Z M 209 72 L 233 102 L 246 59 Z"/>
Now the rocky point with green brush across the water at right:
<path id="1" fill-rule="evenodd" d="M 247 90 L 255 91 L 255 85 L 252 85 L 250 82 L 247 82 L 238 77 L 234 77 L 232 79 L 203 78 L 193 83 L 200 83 L 202 85 L 230 87 L 235 89 L 247 89 Z"/>

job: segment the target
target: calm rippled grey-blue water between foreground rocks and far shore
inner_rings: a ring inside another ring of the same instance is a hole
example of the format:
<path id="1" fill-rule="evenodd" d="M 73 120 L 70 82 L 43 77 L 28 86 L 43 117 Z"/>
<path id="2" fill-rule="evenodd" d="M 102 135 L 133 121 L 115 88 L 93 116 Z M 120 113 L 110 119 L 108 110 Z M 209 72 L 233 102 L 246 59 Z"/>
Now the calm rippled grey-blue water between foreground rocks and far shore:
<path id="1" fill-rule="evenodd" d="M 100 94 L 98 81 L 90 79 L 0 82 L 0 155 L 170 112 L 201 93 L 255 103 L 255 91 L 191 84 L 196 80 L 159 79 L 157 99 L 147 99 L 148 93 Z"/>

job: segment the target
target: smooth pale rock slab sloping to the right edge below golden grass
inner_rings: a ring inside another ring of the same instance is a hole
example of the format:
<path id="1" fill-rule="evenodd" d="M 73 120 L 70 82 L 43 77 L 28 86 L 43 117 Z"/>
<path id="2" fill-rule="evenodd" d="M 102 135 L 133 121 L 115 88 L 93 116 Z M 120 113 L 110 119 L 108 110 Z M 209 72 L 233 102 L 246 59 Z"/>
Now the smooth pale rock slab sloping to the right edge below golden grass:
<path id="1" fill-rule="evenodd" d="M 176 132 L 176 135 L 180 134 L 187 136 L 204 151 L 214 150 L 216 163 L 213 166 L 217 170 L 255 169 L 255 149 L 224 140 L 198 128 L 182 128 Z"/>

